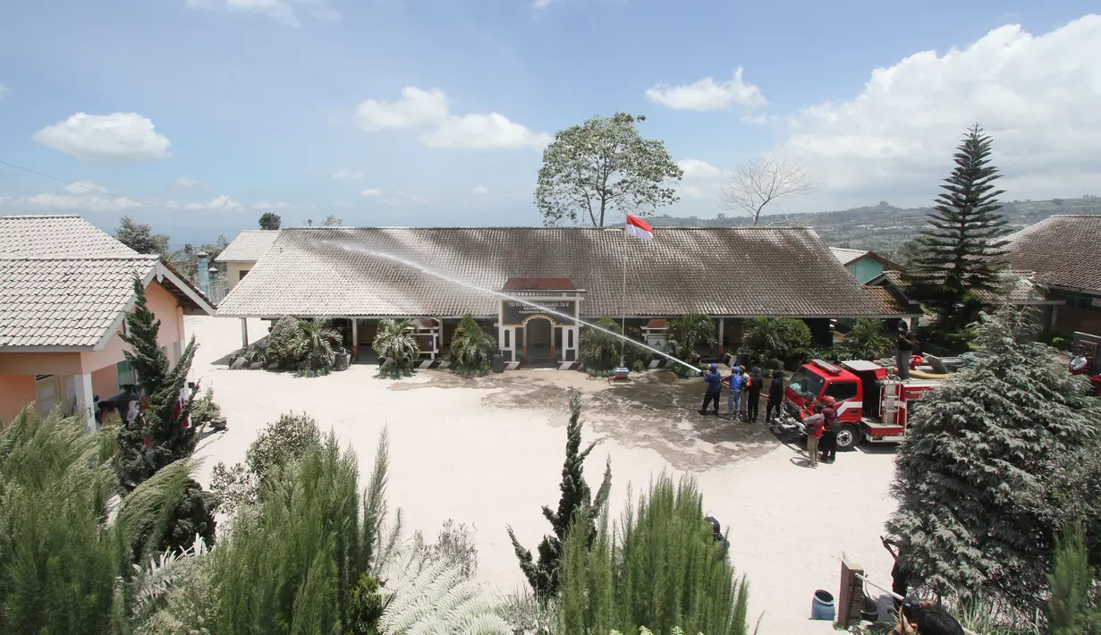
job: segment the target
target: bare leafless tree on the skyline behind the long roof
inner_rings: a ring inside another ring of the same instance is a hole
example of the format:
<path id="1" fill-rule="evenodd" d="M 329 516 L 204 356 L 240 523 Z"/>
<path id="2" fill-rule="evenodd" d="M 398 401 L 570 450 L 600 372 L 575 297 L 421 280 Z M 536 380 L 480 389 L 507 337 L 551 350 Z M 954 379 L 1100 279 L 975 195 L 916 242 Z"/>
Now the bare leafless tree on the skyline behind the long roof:
<path id="1" fill-rule="evenodd" d="M 819 183 L 807 169 L 786 158 L 753 158 L 738 166 L 722 186 L 722 209 L 744 211 L 761 221 L 761 212 L 774 200 L 795 198 L 818 189 Z"/>

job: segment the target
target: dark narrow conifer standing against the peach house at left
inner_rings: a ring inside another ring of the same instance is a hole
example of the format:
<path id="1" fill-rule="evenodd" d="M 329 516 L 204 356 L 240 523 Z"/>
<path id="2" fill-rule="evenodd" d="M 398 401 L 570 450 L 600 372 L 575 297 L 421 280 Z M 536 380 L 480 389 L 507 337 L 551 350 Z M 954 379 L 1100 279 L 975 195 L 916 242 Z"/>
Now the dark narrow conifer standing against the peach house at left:
<path id="1" fill-rule="evenodd" d="M 127 314 L 128 335 L 122 340 L 130 344 L 123 355 L 138 375 L 150 406 L 143 413 L 145 424 L 122 426 L 119 431 L 119 478 L 123 486 L 133 489 L 168 463 L 189 457 L 195 451 L 195 428 L 184 427 L 190 413 L 195 394 L 176 412 L 179 391 L 187 382 L 187 373 L 195 357 L 195 338 L 184 347 L 174 366 L 168 365 L 168 355 L 156 341 L 161 320 L 150 310 L 145 298 L 145 286 L 134 276 L 134 307 Z M 198 391 L 195 391 L 197 393 Z M 150 439 L 150 447 L 144 438 Z"/>

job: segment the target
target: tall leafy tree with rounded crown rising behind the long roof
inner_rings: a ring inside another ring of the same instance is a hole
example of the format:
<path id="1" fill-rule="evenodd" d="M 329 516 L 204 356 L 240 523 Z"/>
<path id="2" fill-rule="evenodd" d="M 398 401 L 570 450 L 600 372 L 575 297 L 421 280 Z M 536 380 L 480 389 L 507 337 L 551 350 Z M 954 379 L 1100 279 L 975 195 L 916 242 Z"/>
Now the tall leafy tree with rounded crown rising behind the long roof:
<path id="1" fill-rule="evenodd" d="M 684 171 L 664 142 L 639 134 L 635 124 L 645 120 L 617 112 L 555 134 L 535 186 L 544 225 L 588 219 L 603 227 L 611 210 L 650 214 L 679 200 L 669 182 L 680 180 Z"/>

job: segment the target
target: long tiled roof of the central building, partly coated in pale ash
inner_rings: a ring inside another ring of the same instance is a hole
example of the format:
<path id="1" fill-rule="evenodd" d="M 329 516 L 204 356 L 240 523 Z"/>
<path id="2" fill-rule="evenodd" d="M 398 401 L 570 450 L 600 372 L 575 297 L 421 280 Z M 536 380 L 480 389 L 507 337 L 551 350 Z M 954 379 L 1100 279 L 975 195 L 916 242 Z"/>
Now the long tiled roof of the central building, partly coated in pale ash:
<path id="1" fill-rule="evenodd" d="M 505 280 L 565 277 L 587 292 L 582 315 L 618 316 L 623 240 L 593 228 L 284 229 L 218 315 L 493 316 L 488 292 Z M 626 249 L 626 315 L 881 315 L 810 229 L 657 228 Z"/>

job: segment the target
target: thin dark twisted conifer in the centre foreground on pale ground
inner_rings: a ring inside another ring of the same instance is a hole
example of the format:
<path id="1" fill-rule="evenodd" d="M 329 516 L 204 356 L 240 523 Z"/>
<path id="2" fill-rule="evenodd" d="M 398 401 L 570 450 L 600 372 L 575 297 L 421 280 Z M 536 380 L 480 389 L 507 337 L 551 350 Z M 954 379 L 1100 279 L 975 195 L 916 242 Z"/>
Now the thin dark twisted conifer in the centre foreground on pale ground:
<path id="1" fill-rule="evenodd" d="M 558 593 L 558 568 L 562 560 L 562 548 L 566 537 L 570 532 L 570 523 L 574 516 L 589 508 L 601 508 L 608 500 L 608 493 L 612 484 L 611 459 L 604 467 L 604 478 L 597 490 L 596 499 L 588 483 L 585 481 L 585 459 L 596 447 L 597 442 L 589 444 L 584 451 L 581 447 L 581 398 L 575 393 L 569 398 L 569 425 L 566 426 L 566 461 L 562 467 L 562 499 L 558 500 L 558 511 L 543 506 L 543 516 L 550 523 L 554 535 L 543 536 L 543 541 L 538 546 L 538 560 L 532 557 L 532 552 L 520 545 L 512 527 L 509 527 L 509 538 L 512 539 L 512 548 L 520 560 L 520 568 L 532 590 L 539 599 L 548 599 Z M 589 546 L 596 539 L 597 530 L 591 518 L 586 523 L 588 527 Z"/>

